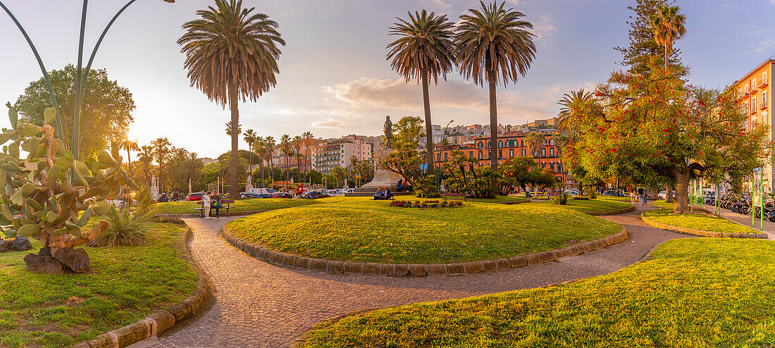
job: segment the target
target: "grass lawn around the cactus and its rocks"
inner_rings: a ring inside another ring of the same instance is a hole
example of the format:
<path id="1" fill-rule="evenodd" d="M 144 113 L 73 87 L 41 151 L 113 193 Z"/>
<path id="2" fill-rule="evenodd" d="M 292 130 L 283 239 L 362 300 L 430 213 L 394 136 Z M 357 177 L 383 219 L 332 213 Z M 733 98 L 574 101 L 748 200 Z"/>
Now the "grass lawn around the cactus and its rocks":
<path id="1" fill-rule="evenodd" d="M 146 246 L 90 248 L 91 274 L 26 270 L 32 252 L 0 253 L 0 346 L 68 346 L 145 318 L 195 291 L 184 226 L 153 223 Z M 40 242 L 33 241 L 34 251 Z"/>

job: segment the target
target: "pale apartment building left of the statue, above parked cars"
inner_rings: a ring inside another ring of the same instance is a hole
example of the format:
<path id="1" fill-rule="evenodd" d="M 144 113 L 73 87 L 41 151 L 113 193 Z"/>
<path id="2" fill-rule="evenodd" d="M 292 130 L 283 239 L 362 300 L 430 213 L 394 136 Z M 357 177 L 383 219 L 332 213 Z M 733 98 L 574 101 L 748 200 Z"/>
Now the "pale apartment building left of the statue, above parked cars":
<path id="1" fill-rule="evenodd" d="M 349 167 L 350 157 L 371 160 L 371 153 L 371 143 L 360 140 L 358 136 L 328 140 L 312 147 L 312 169 L 330 174 L 333 167 Z"/>

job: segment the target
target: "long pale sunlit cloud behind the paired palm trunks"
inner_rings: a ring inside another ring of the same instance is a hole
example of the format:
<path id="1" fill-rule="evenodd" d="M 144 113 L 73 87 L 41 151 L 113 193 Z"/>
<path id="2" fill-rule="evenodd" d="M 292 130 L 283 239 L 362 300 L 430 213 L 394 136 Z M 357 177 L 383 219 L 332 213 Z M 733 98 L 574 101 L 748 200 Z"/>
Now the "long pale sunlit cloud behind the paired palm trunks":
<path id="1" fill-rule="evenodd" d="M 514 85 L 510 85 L 514 88 Z M 498 91 L 498 118 L 504 124 L 518 124 L 529 119 L 545 119 L 556 114 L 556 106 L 563 93 L 573 89 L 594 89 L 586 82 L 581 86 L 554 84 L 531 91 Z M 326 87 L 339 104 L 353 112 L 392 112 L 422 115 L 422 88 L 414 81 L 403 79 L 359 78 L 344 84 Z M 431 107 L 445 109 L 445 114 L 462 114 L 481 119 L 489 115 L 489 95 L 485 88 L 467 81 L 439 81 L 430 88 Z M 457 119 L 457 118 L 456 118 Z"/>

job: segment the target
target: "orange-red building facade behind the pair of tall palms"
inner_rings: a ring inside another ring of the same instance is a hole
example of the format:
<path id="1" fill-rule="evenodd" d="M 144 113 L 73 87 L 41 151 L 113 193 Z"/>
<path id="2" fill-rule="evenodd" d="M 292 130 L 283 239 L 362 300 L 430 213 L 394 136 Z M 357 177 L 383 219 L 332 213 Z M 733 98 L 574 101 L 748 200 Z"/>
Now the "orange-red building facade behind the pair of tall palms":
<path id="1" fill-rule="evenodd" d="M 525 140 L 525 133 L 505 134 L 498 136 L 498 163 L 502 163 L 505 160 L 514 157 L 532 156 L 530 153 L 530 147 Z M 470 157 L 479 160 L 481 165 L 490 165 L 490 137 L 477 137 L 474 138 L 474 143 L 465 145 L 453 145 L 453 146 L 441 146 L 436 144 L 436 150 L 433 153 L 433 159 L 436 160 L 436 165 L 439 167 L 446 161 L 452 159 L 452 152 L 454 150 L 463 151 L 463 153 Z M 560 161 L 560 149 L 556 148 L 554 140 L 550 135 L 546 136 L 546 142 L 541 148 L 541 156 L 533 157 L 540 167 L 548 168 L 554 171 L 557 182 L 560 182 L 565 187 L 572 187 L 576 185 L 573 177 L 567 174 L 563 164 Z"/>

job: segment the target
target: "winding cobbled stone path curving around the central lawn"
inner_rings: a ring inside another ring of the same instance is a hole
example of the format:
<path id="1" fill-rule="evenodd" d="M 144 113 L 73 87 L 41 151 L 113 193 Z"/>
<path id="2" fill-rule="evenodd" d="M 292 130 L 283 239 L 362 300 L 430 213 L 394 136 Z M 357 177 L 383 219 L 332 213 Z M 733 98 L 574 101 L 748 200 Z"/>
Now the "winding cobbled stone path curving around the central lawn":
<path id="1" fill-rule="evenodd" d="M 324 274 L 266 264 L 236 250 L 217 233 L 236 219 L 185 219 L 191 252 L 215 285 L 215 303 L 184 325 L 132 347 L 287 347 L 324 319 L 370 308 L 536 288 L 608 274 L 636 263 L 654 246 L 689 236 L 654 229 L 639 215 L 649 206 L 605 219 L 630 238 L 603 250 L 549 264 L 456 277 Z M 207 312 L 205 312 L 207 311 Z"/>

